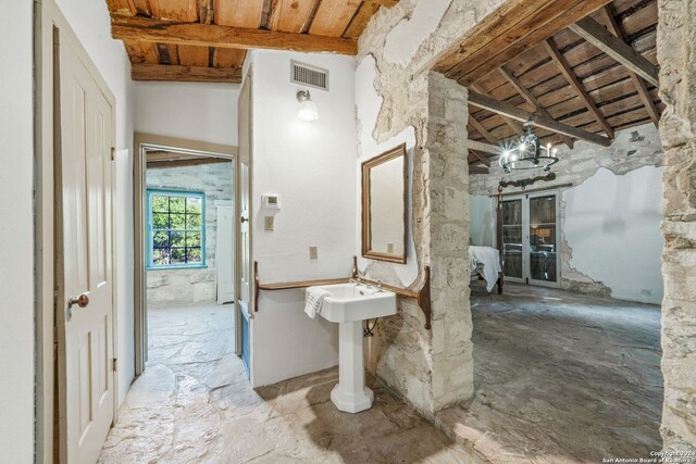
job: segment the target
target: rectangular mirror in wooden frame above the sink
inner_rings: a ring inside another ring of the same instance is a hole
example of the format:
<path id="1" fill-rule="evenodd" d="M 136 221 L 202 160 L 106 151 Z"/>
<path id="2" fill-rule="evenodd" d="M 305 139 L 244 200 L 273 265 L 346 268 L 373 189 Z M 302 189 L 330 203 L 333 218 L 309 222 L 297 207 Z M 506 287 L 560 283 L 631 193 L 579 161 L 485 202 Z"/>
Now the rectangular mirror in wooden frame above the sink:
<path id="1" fill-rule="evenodd" d="M 362 255 L 406 264 L 406 145 L 362 163 Z"/>

